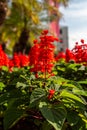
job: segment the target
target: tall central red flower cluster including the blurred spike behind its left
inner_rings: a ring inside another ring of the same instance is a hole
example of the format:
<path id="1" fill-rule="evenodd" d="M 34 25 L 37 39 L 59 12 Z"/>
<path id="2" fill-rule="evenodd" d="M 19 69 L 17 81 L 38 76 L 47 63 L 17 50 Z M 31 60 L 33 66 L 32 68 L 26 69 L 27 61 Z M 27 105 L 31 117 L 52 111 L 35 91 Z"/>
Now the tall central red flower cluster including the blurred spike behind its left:
<path id="1" fill-rule="evenodd" d="M 30 65 L 31 71 L 51 73 L 54 66 L 54 41 L 58 41 L 57 38 L 48 35 L 48 30 L 44 30 L 40 36 L 39 41 L 34 41 L 34 46 L 30 50 Z"/>

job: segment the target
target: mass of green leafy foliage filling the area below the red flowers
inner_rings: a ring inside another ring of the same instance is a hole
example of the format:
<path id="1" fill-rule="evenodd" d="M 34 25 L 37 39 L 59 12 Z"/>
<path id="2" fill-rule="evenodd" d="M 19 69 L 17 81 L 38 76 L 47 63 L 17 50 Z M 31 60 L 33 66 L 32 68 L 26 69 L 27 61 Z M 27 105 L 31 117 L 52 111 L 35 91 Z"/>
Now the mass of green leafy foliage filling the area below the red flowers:
<path id="1" fill-rule="evenodd" d="M 36 78 L 30 67 L 14 68 L 12 72 L 2 67 L 0 117 L 5 130 L 26 117 L 41 130 L 87 129 L 87 78 L 76 74 L 85 74 L 86 67 L 61 61 L 53 71 L 55 76 L 44 79 Z M 51 98 L 49 90 L 55 91 Z"/>

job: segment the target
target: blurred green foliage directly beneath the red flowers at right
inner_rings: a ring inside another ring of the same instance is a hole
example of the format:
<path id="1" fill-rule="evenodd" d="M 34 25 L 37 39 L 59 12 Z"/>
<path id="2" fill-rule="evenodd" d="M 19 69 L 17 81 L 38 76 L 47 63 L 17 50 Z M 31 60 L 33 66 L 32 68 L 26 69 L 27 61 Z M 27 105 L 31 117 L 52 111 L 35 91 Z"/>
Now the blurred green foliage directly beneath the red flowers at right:
<path id="1" fill-rule="evenodd" d="M 58 76 L 61 76 L 65 79 L 77 81 L 83 87 L 86 86 L 87 66 L 72 62 L 66 63 L 64 61 L 60 61 L 55 65 L 55 70 Z"/>

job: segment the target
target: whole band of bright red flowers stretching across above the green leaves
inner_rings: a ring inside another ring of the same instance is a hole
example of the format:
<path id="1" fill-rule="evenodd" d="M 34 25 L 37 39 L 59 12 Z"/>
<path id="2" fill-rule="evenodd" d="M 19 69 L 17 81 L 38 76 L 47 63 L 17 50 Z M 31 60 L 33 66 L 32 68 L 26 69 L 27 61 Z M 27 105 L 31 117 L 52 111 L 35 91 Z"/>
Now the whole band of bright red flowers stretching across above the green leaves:
<path id="1" fill-rule="evenodd" d="M 31 66 L 31 72 L 35 72 L 36 75 L 38 72 L 44 73 L 46 78 L 46 74 L 52 75 L 54 62 L 61 58 L 66 62 L 73 60 L 76 63 L 87 65 L 87 44 L 83 39 L 81 39 L 80 45 L 76 42 L 72 50 L 67 48 L 65 53 L 60 52 L 54 58 L 55 46 L 53 43 L 55 41 L 59 41 L 59 39 L 50 36 L 48 30 L 44 30 L 39 40 L 34 40 L 34 46 L 29 55 L 14 53 L 12 59 L 8 58 L 0 45 L 0 67 L 7 66 L 12 70 L 13 67 Z"/>

